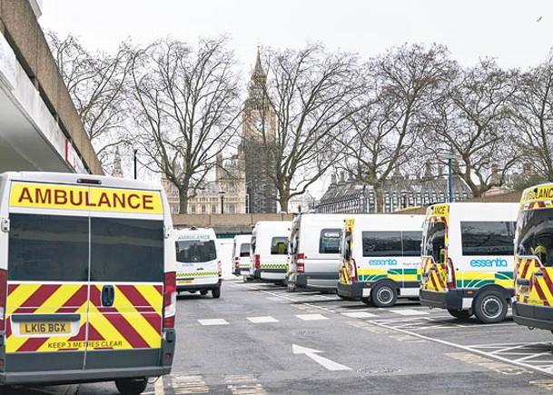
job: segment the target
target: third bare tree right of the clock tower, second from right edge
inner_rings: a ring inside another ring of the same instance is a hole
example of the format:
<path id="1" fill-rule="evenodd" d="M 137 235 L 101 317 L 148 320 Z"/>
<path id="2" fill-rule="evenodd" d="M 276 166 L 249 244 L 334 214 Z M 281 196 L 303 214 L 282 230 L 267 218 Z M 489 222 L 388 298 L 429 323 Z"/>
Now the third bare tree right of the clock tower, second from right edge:
<path id="1" fill-rule="evenodd" d="M 510 99 L 517 90 L 512 81 L 512 72 L 483 59 L 475 67 L 459 70 L 441 100 L 434 101 L 427 147 L 435 158 L 440 153 L 459 158 L 454 172 L 475 197 L 503 184 L 519 159 L 512 150 L 515 136 L 509 127 Z"/>

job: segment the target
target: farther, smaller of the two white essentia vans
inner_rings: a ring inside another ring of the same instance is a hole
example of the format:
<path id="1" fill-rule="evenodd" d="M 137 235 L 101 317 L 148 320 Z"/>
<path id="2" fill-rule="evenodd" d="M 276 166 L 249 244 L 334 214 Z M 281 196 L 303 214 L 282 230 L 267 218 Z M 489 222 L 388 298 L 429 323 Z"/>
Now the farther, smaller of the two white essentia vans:
<path id="1" fill-rule="evenodd" d="M 418 297 L 424 215 L 363 214 L 343 225 L 338 294 L 377 307 Z"/>

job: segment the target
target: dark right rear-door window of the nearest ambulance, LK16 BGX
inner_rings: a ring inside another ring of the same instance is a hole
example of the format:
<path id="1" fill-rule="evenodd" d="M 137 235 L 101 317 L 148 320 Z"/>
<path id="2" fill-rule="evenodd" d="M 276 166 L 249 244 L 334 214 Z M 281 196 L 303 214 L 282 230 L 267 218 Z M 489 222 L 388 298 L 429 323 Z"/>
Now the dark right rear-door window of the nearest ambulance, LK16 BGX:
<path id="1" fill-rule="evenodd" d="M 163 282 L 163 221 L 91 218 L 91 281 Z"/>

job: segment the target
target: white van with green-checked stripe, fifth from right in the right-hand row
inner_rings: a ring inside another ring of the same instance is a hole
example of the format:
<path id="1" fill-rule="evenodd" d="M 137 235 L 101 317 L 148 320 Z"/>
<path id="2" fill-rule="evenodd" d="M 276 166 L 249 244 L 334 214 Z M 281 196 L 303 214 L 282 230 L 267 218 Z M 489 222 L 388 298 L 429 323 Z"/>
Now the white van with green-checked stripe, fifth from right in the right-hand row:
<path id="1" fill-rule="evenodd" d="M 284 283 L 291 221 L 259 221 L 252 230 L 250 278 Z"/>

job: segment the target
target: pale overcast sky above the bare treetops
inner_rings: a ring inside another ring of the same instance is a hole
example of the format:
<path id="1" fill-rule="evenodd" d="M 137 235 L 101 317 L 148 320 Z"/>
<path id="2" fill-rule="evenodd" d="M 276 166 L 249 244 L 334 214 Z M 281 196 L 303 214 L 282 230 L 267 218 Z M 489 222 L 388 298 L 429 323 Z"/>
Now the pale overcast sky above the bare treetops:
<path id="1" fill-rule="evenodd" d="M 228 34 L 246 70 L 258 44 L 320 41 L 369 58 L 394 45 L 439 43 L 463 65 L 491 56 L 503 67 L 536 65 L 553 44 L 552 0 L 43 0 L 39 22 L 107 51 L 126 37 L 193 44 Z"/>

